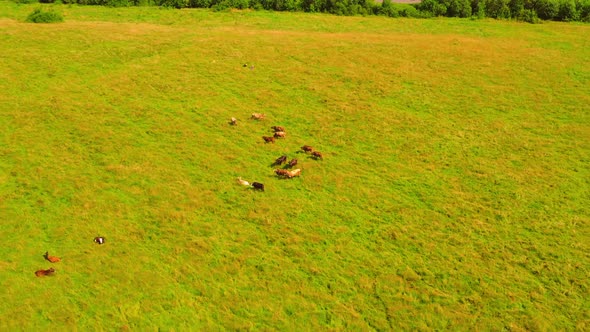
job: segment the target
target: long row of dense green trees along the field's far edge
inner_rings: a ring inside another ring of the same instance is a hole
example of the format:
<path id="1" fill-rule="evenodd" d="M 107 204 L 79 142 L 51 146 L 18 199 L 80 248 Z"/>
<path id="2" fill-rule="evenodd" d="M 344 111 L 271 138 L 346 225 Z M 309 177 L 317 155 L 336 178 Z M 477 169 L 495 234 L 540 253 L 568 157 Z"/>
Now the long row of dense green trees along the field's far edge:
<path id="1" fill-rule="evenodd" d="M 20 0 L 25 1 L 27 0 Z M 41 0 L 51 3 L 56 0 Z M 590 0 L 423 0 L 398 4 L 391 0 L 57 0 L 66 4 L 101 6 L 163 6 L 173 8 L 257 9 L 321 12 L 336 15 L 384 15 L 428 18 L 476 17 L 590 22 Z"/>

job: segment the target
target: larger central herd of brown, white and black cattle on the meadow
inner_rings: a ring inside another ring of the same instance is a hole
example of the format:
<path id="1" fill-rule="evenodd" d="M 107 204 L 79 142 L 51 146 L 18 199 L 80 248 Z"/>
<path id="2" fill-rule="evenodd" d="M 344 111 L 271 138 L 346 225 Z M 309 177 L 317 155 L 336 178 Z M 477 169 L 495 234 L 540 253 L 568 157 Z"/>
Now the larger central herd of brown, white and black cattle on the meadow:
<path id="1" fill-rule="evenodd" d="M 265 119 L 265 115 L 261 114 L 261 113 L 252 113 L 251 119 L 263 120 L 263 119 Z M 238 120 L 236 118 L 231 118 L 229 123 L 231 125 L 235 126 L 235 125 L 237 125 Z M 285 127 L 273 126 L 271 128 L 274 131 L 273 136 L 262 136 L 262 139 L 264 140 L 265 143 L 274 143 L 276 139 L 287 137 Z M 310 156 L 313 159 L 316 159 L 316 160 L 318 160 L 318 159 L 323 160 L 324 159 L 321 152 L 314 151 L 314 149 L 309 145 L 302 146 L 301 150 L 305 153 L 310 153 L 311 154 Z M 292 169 L 295 165 L 297 165 L 297 163 L 298 163 L 298 161 L 295 158 L 293 158 L 287 162 L 287 156 L 283 155 L 283 156 L 280 156 L 279 158 L 277 158 L 274 161 L 274 163 L 272 163 L 272 166 L 282 166 L 283 164 L 285 164 L 285 166 L 283 168 L 277 168 L 274 170 L 274 172 L 280 178 L 292 179 L 292 178 L 299 176 L 301 174 L 300 168 Z M 238 177 L 238 183 L 241 185 L 247 186 L 247 187 L 251 187 L 255 190 L 264 191 L 264 184 L 260 183 L 260 182 L 250 183 L 246 180 L 243 180 L 241 177 Z"/>

